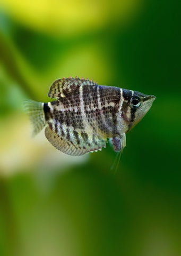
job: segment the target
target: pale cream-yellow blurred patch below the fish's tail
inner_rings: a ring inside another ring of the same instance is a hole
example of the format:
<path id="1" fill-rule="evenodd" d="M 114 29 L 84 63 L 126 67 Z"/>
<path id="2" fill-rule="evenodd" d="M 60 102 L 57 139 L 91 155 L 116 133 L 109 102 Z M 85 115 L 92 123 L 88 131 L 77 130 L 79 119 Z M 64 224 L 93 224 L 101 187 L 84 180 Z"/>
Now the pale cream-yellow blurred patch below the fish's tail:
<path id="1" fill-rule="evenodd" d="M 13 131 L 12 131 L 13 127 Z M 47 143 L 42 131 L 35 139 L 28 117 L 15 113 L 0 119 L 0 175 L 10 176 L 24 170 L 40 171 L 61 166 L 74 166 L 87 161 L 89 155 L 72 157 L 64 155 Z"/>

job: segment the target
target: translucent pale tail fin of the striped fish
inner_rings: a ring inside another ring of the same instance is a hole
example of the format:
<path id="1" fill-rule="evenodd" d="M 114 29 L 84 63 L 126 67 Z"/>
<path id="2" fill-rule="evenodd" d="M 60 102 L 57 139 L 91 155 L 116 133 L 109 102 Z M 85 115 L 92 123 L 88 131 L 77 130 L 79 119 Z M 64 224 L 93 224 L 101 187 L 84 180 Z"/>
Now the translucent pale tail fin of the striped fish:
<path id="1" fill-rule="evenodd" d="M 33 136 L 39 133 L 46 125 L 43 103 L 34 100 L 24 101 L 24 111 L 29 115 L 33 124 Z"/>

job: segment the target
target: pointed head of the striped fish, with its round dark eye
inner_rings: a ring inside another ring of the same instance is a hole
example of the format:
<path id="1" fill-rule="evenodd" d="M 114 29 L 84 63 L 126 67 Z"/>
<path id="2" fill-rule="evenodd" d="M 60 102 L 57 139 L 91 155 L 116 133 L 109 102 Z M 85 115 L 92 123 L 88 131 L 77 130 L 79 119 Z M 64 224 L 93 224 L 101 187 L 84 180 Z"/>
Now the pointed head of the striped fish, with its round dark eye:
<path id="1" fill-rule="evenodd" d="M 128 130 L 131 130 L 149 111 L 156 97 L 154 95 L 146 95 L 141 92 L 125 89 L 123 90 L 123 97 L 125 100 L 123 113 L 128 122 Z"/>

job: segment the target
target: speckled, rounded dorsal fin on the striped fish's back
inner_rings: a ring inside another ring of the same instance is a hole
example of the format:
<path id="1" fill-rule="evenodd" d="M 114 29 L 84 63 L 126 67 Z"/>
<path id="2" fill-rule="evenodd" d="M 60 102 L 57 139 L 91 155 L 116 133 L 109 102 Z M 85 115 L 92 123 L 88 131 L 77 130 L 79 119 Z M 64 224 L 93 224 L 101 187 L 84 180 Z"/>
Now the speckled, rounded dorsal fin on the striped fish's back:
<path id="1" fill-rule="evenodd" d="M 48 97 L 53 98 L 64 98 L 68 93 L 72 93 L 79 89 L 81 85 L 97 85 L 96 83 L 90 81 L 88 78 L 80 79 L 79 77 L 68 77 L 57 79 L 50 87 L 48 92 Z"/>

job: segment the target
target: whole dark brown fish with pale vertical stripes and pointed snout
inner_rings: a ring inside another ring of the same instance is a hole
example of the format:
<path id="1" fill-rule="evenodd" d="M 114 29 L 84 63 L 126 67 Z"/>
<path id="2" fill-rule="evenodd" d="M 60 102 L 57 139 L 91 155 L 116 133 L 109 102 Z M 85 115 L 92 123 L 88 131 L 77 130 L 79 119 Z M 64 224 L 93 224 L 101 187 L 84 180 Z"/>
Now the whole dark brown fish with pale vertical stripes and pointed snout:
<path id="1" fill-rule="evenodd" d="M 122 152 L 129 132 L 151 108 L 154 95 L 98 85 L 88 78 L 57 79 L 50 86 L 50 102 L 24 101 L 33 135 L 45 127 L 47 140 L 72 156 L 106 148 Z"/>

